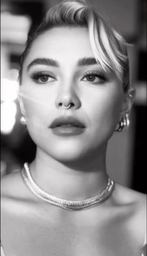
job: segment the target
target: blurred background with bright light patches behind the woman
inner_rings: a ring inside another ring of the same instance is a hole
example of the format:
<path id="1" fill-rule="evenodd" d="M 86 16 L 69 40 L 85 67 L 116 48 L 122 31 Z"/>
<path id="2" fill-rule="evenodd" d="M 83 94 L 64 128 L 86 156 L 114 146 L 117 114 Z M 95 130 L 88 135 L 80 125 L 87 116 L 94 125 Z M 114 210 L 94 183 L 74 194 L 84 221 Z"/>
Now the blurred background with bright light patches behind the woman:
<path id="1" fill-rule="evenodd" d="M 107 169 L 116 182 L 146 193 L 146 0 L 90 0 L 131 43 L 136 98 L 127 131 L 108 144 Z M 20 123 L 17 75 L 27 33 L 60 0 L 1 0 L 1 177 L 31 162 L 36 146 Z"/>

